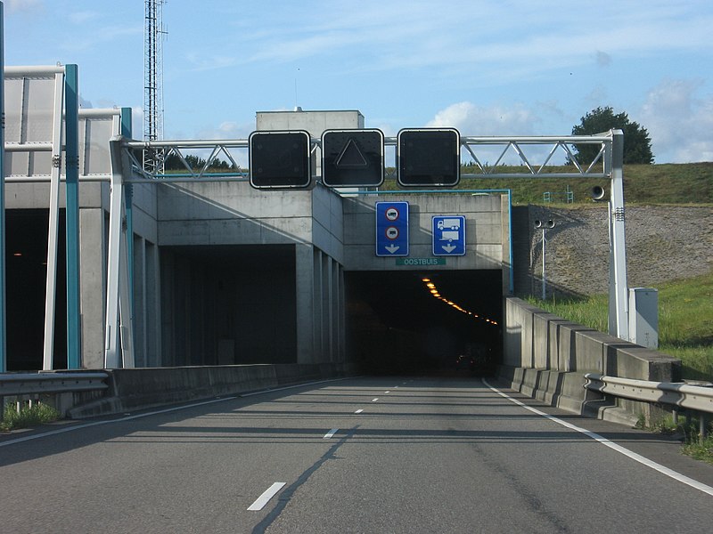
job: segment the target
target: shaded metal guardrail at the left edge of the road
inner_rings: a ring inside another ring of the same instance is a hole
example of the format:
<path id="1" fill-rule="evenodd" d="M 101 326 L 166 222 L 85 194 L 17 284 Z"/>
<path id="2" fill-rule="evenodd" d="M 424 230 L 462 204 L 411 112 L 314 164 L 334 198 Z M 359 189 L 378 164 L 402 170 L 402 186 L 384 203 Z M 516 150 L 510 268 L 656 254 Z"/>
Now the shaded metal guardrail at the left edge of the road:
<path id="1" fill-rule="evenodd" d="M 0 374 L 0 421 L 4 413 L 4 397 L 40 393 L 71 393 L 103 390 L 108 373 L 6 373 Z"/>

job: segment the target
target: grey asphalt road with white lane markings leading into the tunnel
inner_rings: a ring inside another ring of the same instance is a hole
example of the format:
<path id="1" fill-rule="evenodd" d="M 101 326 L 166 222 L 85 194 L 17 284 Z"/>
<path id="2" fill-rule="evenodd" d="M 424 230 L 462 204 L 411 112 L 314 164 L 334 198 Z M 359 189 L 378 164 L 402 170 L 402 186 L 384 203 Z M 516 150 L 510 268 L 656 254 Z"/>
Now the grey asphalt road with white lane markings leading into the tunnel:
<path id="1" fill-rule="evenodd" d="M 676 442 L 490 385 L 348 379 L 5 433 L 0 531 L 713 528 L 713 467 Z"/>

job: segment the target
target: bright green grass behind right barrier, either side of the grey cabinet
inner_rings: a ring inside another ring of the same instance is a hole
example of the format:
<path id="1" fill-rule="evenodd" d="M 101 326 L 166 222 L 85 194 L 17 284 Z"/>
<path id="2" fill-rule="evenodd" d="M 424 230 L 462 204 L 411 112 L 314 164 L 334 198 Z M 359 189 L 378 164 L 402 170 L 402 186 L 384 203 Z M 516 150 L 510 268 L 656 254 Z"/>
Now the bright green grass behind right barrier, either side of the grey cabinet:
<path id="1" fill-rule="evenodd" d="M 681 360 L 682 376 L 713 381 L 713 271 L 668 282 L 659 290 L 659 351 Z M 608 330 L 607 295 L 529 302 L 601 332 Z"/>

